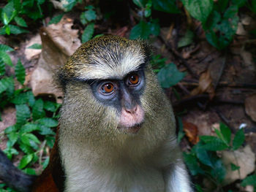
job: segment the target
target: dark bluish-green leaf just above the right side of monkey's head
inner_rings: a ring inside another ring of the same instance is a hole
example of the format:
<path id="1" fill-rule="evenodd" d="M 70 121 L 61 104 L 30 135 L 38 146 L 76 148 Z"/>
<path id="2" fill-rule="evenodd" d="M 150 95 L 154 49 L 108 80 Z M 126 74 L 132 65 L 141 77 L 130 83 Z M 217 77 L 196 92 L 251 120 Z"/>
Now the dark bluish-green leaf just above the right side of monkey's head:
<path id="1" fill-rule="evenodd" d="M 134 26 L 129 34 L 129 39 L 148 39 L 151 34 L 151 25 L 143 20 L 140 20 L 136 26 Z"/>

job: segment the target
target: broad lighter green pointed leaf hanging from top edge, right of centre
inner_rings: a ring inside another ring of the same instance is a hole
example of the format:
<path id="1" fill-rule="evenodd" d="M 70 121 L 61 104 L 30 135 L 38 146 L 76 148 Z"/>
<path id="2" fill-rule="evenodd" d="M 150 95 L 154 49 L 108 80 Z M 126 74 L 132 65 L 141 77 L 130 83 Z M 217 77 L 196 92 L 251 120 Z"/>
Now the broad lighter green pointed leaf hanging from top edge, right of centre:
<path id="1" fill-rule="evenodd" d="M 205 23 L 214 7 L 212 0 L 181 0 L 190 15 Z"/>

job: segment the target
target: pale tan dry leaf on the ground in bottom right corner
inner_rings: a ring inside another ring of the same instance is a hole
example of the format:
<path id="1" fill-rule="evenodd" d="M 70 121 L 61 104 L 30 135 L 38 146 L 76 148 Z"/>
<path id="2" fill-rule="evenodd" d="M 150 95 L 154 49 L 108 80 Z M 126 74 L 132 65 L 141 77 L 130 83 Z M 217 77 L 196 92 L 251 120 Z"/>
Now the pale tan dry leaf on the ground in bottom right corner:
<path id="1" fill-rule="evenodd" d="M 246 147 L 232 151 L 222 152 L 222 162 L 226 167 L 225 185 L 233 183 L 235 180 L 243 180 L 248 174 L 255 170 L 255 153 L 249 145 Z M 230 164 L 240 166 L 238 170 L 232 171 Z"/>

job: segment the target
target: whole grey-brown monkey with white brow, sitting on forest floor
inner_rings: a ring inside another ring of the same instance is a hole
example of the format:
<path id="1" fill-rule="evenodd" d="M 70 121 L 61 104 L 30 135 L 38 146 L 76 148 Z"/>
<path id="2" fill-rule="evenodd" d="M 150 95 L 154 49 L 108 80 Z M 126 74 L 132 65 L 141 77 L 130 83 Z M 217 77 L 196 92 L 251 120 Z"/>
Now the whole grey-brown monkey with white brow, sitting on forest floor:
<path id="1" fill-rule="evenodd" d="M 105 35 L 60 66 L 56 143 L 31 191 L 193 191 L 150 60 L 146 42 Z"/>

